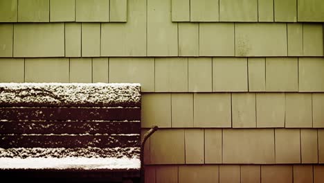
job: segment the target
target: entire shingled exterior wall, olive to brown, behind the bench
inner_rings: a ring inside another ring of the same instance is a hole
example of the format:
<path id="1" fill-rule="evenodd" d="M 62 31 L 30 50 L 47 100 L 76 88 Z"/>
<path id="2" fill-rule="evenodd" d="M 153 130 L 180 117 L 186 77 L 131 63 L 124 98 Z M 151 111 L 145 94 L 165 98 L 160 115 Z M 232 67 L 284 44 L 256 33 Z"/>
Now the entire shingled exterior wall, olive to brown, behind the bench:
<path id="1" fill-rule="evenodd" d="M 0 82 L 140 82 L 147 182 L 324 182 L 322 0 L 0 1 Z M 116 23 L 118 22 L 118 23 Z"/>

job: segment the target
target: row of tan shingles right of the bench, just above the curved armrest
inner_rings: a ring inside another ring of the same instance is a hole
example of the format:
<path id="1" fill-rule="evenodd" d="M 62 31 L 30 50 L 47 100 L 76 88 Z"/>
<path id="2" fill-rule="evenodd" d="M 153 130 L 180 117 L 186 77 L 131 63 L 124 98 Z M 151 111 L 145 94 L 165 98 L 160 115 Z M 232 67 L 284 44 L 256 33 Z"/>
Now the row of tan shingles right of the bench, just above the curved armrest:
<path id="1" fill-rule="evenodd" d="M 324 94 L 143 94 L 142 128 L 324 128 L 323 103 Z"/>

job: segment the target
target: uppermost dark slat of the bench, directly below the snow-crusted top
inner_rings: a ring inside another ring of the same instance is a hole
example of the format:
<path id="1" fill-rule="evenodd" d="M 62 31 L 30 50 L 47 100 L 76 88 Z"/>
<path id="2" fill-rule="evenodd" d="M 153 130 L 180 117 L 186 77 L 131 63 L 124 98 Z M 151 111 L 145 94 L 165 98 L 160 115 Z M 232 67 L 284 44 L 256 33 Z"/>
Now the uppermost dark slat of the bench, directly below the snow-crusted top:
<path id="1" fill-rule="evenodd" d="M 123 107 L 0 107 L 0 119 L 140 121 L 141 108 Z"/>

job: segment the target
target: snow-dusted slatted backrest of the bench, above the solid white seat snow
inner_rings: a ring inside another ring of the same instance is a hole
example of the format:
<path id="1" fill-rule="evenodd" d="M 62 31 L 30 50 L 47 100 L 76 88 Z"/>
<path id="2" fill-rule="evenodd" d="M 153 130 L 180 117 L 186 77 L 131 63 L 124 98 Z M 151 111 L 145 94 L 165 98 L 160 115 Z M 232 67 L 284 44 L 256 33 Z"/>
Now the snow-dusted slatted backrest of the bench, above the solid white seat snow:
<path id="1" fill-rule="evenodd" d="M 0 84 L 0 157 L 139 158 L 140 122 L 137 84 Z"/>

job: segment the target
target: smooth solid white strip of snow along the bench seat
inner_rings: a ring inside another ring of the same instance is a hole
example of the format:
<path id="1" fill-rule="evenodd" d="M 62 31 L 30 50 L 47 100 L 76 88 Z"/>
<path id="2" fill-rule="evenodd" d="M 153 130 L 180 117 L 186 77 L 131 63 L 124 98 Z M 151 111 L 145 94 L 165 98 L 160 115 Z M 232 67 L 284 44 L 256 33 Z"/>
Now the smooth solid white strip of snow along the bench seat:
<path id="1" fill-rule="evenodd" d="M 139 169 L 141 162 L 138 158 L 0 158 L 0 169 Z"/>

